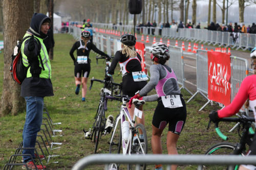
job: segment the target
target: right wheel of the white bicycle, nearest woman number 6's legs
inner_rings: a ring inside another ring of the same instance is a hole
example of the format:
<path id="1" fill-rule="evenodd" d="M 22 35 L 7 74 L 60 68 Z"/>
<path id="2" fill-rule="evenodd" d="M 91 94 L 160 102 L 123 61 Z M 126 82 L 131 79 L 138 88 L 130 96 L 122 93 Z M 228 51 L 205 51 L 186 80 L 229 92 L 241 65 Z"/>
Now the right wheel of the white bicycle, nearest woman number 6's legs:
<path id="1" fill-rule="evenodd" d="M 142 131 L 143 138 L 139 138 L 139 131 Z M 137 136 L 137 139 L 132 139 L 132 148 L 131 148 L 131 154 L 137 154 L 137 155 L 145 155 L 147 154 L 147 136 L 146 136 L 146 129 L 142 124 L 138 124 L 135 127 L 134 136 Z M 133 136 L 133 138 L 134 138 Z M 146 164 L 140 165 L 141 169 L 146 169 Z M 136 169 L 135 164 L 127 164 L 127 169 Z"/>

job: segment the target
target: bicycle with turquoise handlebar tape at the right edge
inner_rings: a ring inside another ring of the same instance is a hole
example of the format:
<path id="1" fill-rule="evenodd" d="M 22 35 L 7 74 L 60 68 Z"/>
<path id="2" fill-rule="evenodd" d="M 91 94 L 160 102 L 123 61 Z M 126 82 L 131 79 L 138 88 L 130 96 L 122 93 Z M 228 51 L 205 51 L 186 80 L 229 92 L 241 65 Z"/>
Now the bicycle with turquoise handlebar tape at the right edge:
<path id="1" fill-rule="evenodd" d="M 249 146 L 252 137 L 254 135 L 254 131 L 252 129 L 252 124 L 255 122 L 253 117 L 245 116 L 244 114 L 239 115 L 239 117 L 225 117 L 219 119 L 218 122 L 215 123 L 215 129 L 217 134 L 224 140 L 228 140 L 228 137 L 225 136 L 219 129 L 220 122 L 234 122 L 237 123 L 229 132 L 233 131 L 235 128 L 238 127 L 238 135 L 240 137 L 239 143 L 229 143 L 229 142 L 220 142 L 217 144 L 212 145 L 205 155 L 245 155 L 246 154 L 246 147 Z M 210 122 L 208 124 L 208 128 L 210 126 Z M 208 129 L 207 128 L 207 129 Z M 239 165 L 215 165 L 209 166 L 206 165 L 199 165 L 199 169 L 238 169 Z"/>

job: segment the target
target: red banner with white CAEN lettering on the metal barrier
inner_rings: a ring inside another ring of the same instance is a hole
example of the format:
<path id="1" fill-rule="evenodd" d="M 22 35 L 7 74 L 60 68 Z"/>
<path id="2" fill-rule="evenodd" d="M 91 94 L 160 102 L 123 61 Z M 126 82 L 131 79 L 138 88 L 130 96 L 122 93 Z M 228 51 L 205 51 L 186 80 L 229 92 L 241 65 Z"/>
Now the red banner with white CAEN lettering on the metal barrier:
<path id="1" fill-rule="evenodd" d="M 208 51 L 208 99 L 230 104 L 230 55 Z"/>

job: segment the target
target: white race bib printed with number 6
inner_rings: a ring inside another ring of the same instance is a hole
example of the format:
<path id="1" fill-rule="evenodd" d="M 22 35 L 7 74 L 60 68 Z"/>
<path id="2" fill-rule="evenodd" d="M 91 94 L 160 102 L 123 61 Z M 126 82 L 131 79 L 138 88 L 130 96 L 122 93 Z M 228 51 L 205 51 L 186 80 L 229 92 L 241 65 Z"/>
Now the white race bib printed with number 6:
<path id="1" fill-rule="evenodd" d="M 161 96 L 164 107 L 166 108 L 177 108 L 182 107 L 180 95 L 166 95 Z"/>

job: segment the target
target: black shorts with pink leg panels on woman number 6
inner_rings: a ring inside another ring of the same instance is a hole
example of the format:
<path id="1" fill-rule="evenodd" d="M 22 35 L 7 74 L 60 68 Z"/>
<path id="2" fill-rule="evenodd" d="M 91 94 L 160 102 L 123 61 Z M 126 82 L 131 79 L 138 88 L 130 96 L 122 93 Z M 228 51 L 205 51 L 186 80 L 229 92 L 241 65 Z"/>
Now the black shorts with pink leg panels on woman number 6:
<path id="1" fill-rule="evenodd" d="M 159 98 L 158 105 L 153 116 L 152 125 L 163 130 L 166 125 L 169 124 L 168 131 L 180 134 L 187 117 L 186 103 L 182 97 L 180 99 L 183 107 L 165 108 L 161 98 Z"/>

